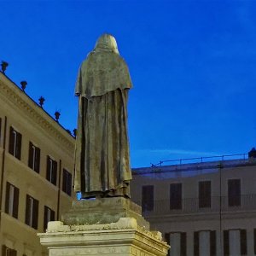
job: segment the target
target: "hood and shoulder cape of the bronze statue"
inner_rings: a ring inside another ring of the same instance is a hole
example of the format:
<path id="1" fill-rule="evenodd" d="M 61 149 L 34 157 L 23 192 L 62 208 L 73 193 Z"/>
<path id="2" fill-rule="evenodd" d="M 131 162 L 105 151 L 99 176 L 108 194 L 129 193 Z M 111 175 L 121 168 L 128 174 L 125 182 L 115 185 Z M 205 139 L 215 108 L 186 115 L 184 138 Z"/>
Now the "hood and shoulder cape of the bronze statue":
<path id="1" fill-rule="evenodd" d="M 79 69 L 75 94 L 102 96 L 109 91 L 132 87 L 125 60 L 119 55 L 113 36 L 103 34 Z"/>

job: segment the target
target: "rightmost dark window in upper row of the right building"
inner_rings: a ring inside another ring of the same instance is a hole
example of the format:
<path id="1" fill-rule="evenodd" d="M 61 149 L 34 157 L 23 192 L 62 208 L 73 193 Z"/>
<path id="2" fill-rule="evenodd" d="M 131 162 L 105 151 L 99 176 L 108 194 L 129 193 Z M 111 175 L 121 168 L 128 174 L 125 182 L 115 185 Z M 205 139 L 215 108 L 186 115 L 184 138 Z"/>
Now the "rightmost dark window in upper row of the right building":
<path id="1" fill-rule="evenodd" d="M 240 179 L 230 179 L 228 181 L 229 207 L 239 207 L 241 205 L 241 181 Z"/>

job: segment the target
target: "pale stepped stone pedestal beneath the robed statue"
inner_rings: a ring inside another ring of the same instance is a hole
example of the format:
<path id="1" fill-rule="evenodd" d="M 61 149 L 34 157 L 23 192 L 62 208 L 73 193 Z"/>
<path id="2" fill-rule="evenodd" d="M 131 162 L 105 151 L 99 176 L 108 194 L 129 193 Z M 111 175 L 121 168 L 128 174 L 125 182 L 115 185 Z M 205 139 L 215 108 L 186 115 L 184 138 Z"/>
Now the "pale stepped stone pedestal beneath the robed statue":
<path id="1" fill-rule="evenodd" d="M 140 213 L 121 197 L 74 201 L 62 221 L 49 222 L 38 236 L 49 256 L 166 256 L 169 246 Z"/>

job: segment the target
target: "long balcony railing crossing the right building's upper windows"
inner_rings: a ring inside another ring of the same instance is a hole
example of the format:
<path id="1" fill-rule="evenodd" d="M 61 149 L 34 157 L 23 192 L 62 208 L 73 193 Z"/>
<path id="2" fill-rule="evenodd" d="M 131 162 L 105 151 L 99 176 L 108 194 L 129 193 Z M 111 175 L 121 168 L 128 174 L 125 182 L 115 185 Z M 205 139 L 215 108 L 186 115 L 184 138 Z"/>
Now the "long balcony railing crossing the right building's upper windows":
<path id="1" fill-rule="evenodd" d="M 137 202 L 138 203 L 138 202 Z M 210 199 L 185 198 L 182 201 L 160 200 L 142 204 L 143 215 L 177 215 L 203 212 L 247 212 L 256 211 L 256 195 L 212 196 Z"/>

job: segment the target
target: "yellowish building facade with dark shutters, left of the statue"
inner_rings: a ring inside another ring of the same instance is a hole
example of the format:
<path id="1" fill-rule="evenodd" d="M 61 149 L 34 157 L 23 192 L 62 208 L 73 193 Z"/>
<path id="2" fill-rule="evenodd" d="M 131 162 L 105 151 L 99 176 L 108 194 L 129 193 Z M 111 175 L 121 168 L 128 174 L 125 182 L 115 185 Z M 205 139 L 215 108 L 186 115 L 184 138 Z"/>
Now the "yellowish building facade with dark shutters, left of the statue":
<path id="1" fill-rule="evenodd" d="M 74 138 L 0 73 L 2 256 L 48 255 L 37 236 L 75 197 Z"/>

